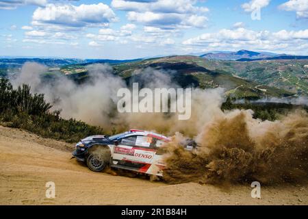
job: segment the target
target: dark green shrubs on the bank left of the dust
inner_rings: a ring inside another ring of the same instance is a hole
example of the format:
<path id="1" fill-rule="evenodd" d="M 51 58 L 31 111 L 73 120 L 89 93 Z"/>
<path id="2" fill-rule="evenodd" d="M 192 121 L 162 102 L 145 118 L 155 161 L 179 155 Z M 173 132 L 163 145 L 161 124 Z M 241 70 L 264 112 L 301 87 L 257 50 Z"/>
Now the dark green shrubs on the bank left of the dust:
<path id="1" fill-rule="evenodd" d="M 0 120 L 4 125 L 66 142 L 78 142 L 86 136 L 103 133 L 101 127 L 61 118 L 61 110 L 50 112 L 51 107 L 44 101 L 43 94 L 31 94 L 28 85 L 14 90 L 8 79 L 0 79 Z"/>

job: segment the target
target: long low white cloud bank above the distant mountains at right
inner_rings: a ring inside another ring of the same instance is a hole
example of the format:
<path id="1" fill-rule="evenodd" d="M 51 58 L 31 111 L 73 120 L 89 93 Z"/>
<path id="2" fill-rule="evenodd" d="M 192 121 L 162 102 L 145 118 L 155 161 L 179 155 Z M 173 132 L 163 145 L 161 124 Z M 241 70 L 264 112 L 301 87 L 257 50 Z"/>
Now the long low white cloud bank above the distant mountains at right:
<path id="1" fill-rule="evenodd" d="M 283 52 L 286 50 L 299 51 L 299 47 L 303 48 L 307 40 L 308 29 L 270 32 L 253 31 L 240 27 L 201 34 L 184 40 L 182 44 L 187 47 L 206 47 L 209 50 L 252 49 Z"/>

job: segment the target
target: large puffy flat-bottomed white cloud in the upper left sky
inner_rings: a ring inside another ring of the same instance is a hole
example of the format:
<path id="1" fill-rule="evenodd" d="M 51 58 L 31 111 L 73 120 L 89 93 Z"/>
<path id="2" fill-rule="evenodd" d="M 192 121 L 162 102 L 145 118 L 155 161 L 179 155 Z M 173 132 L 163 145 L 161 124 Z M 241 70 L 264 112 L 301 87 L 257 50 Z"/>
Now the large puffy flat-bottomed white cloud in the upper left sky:
<path id="1" fill-rule="evenodd" d="M 32 25 L 60 27 L 93 27 L 105 26 L 117 21 L 113 10 L 103 3 L 79 6 L 71 4 L 48 4 L 45 8 L 37 8 L 32 16 Z"/>

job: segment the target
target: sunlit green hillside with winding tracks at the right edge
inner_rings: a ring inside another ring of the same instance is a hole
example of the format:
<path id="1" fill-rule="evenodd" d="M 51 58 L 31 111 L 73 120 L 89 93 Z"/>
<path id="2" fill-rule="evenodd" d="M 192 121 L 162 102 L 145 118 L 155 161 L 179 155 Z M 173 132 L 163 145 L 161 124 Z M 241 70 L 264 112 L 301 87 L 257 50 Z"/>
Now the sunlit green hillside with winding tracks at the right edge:
<path id="1" fill-rule="evenodd" d="M 308 60 L 261 60 L 253 62 L 204 60 L 202 66 L 298 95 L 308 94 Z"/>

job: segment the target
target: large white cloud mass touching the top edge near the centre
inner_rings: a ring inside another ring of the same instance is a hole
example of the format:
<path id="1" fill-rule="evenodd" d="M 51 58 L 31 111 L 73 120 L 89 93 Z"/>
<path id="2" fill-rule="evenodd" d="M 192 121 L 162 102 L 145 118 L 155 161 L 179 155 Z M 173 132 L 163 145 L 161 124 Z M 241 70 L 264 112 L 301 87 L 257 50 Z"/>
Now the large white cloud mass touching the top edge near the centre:
<path id="1" fill-rule="evenodd" d="M 195 0 L 112 1 L 113 8 L 127 11 L 129 21 L 164 29 L 205 27 L 209 10 L 195 4 Z"/>

